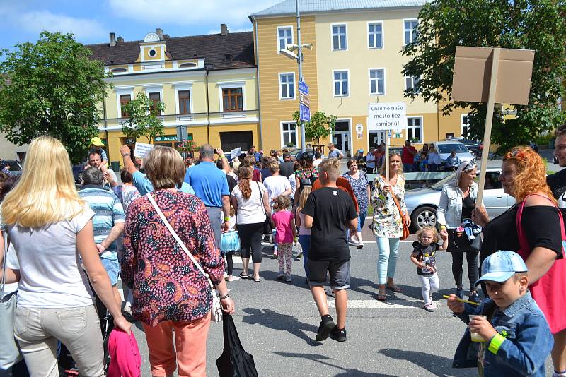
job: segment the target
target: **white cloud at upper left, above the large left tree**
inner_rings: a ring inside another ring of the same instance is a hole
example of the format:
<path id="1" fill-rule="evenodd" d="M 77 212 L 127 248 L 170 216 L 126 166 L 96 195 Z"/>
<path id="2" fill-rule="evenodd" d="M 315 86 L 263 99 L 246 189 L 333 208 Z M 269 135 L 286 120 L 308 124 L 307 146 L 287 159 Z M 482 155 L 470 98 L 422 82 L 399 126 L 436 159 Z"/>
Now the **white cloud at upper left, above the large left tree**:
<path id="1" fill-rule="evenodd" d="M 97 40 L 105 36 L 105 28 L 97 20 L 74 18 L 50 11 L 23 11 L 12 22 L 25 32 L 39 35 L 50 32 L 72 32 L 76 40 Z"/>

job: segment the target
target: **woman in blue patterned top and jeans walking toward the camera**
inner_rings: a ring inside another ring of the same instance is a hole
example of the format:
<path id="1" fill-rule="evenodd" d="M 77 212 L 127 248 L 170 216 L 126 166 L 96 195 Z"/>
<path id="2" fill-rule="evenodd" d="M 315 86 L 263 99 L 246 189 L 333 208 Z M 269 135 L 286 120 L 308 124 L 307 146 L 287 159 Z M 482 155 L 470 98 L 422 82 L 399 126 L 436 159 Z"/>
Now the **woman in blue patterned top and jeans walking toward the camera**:
<path id="1" fill-rule="evenodd" d="M 354 195 L 357 198 L 359 211 L 358 211 L 358 229 L 357 233 L 350 235 L 348 244 L 356 246 L 358 249 L 364 247 L 362 241 L 362 229 L 364 229 L 364 222 L 366 221 L 367 208 L 369 206 L 369 198 L 371 196 L 371 188 L 369 186 L 369 179 L 366 172 L 358 169 L 357 161 L 354 159 L 348 160 L 348 172 L 342 176 L 350 182 Z M 356 240 L 354 240 L 354 236 Z"/>

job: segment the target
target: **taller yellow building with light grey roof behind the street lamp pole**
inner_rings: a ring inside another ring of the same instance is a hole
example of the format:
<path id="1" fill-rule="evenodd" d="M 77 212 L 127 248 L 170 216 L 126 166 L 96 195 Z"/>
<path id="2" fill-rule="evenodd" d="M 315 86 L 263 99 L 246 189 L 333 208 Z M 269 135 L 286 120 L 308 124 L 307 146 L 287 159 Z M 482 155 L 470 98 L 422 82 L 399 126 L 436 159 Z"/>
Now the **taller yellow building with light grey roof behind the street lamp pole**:
<path id="1" fill-rule="evenodd" d="M 461 136 L 465 112 L 442 116 L 433 102 L 403 97 L 417 78 L 401 73 L 408 57 L 400 54 L 415 38 L 417 15 L 424 0 L 313 0 L 301 4 L 303 76 L 310 90 L 311 114 L 337 116 L 331 136 L 337 148 L 354 154 L 381 143 L 383 132 L 368 130 L 370 102 L 406 102 L 408 130 L 393 145 L 415 145 Z M 387 4 L 384 6 L 383 4 Z M 280 54 L 297 43 L 295 0 L 285 0 L 250 16 L 258 65 L 262 148 L 299 146 L 300 131 L 292 114 L 299 107 L 296 61 Z M 330 141 L 330 140 L 325 140 Z M 308 142 L 308 141 L 307 141 Z M 324 143 L 321 140 L 321 143 Z"/>

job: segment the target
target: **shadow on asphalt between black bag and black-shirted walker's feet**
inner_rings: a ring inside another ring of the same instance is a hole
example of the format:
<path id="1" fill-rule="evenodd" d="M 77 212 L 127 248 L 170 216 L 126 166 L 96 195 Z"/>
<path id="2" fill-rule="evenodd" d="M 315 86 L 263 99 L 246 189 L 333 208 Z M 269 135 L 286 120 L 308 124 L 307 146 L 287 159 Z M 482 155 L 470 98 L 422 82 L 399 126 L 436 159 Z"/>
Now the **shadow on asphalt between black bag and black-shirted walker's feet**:
<path id="1" fill-rule="evenodd" d="M 284 330 L 304 340 L 308 345 L 322 345 L 322 343 L 314 340 L 314 335 L 318 332 L 316 325 L 301 322 L 294 316 L 280 314 L 271 309 L 244 308 L 242 311 L 248 314 L 242 319 L 244 323 L 258 324 L 272 330 Z M 312 337 L 308 336 L 307 333 L 312 333 Z"/>

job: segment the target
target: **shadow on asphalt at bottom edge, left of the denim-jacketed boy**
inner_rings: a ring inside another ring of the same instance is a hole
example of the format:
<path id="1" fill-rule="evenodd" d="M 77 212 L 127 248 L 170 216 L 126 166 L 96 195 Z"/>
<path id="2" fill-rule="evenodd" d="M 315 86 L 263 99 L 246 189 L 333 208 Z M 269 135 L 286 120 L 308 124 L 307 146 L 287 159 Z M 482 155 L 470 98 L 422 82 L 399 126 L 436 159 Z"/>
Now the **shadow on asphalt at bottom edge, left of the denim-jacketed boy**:
<path id="1" fill-rule="evenodd" d="M 412 364 L 427 369 L 434 376 L 477 376 L 477 369 L 453 369 L 452 359 L 436 354 L 395 348 L 381 349 L 379 353 L 391 357 L 391 359 L 410 361 Z"/>

